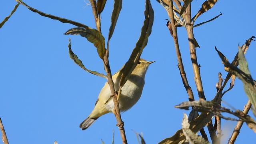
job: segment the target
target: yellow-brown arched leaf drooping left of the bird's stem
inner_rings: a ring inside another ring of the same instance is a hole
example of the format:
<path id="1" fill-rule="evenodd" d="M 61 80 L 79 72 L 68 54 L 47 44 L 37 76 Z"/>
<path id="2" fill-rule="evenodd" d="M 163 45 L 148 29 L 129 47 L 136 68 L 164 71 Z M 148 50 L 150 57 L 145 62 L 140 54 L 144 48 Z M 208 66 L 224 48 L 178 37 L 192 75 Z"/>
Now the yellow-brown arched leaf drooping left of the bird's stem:
<path id="1" fill-rule="evenodd" d="M 93 43 L 94 46 L 97 48 L 97 52 L 100 58 L 103 59 L 103 57 L 105 56 L 105 38 L 98 30 L 92 28 L 71 28 L 64 34 L 79 34 L 80 36 L 87 38 L 87 40 Z"/>

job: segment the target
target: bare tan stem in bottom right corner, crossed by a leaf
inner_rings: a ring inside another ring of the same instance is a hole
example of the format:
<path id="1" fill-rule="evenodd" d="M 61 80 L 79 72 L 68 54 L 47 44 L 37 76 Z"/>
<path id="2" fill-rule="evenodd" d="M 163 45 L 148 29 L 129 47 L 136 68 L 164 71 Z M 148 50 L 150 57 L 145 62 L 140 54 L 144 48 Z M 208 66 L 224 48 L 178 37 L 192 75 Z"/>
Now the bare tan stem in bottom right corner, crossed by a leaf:
<path id="1" fill-rule="evenodd" d="M 248 100 L 247 104 L 244 106 L 244 110 L 243 113 L 244 114 L 248 114 L 250 108 L 251 108 L 252 104 L 251 102 Z M 239 121 L 236 124 L 236 127 L 233 130 L 232 136 L 230 137 L 230 139 L 228 140 L 228 144 L 234 144 L 234 142 L 236 141 L 236 138 L 238 136 L 238 134 L 240 133 L 240 130 L 242 128 L 243 125 L 243 121 Z"/>

